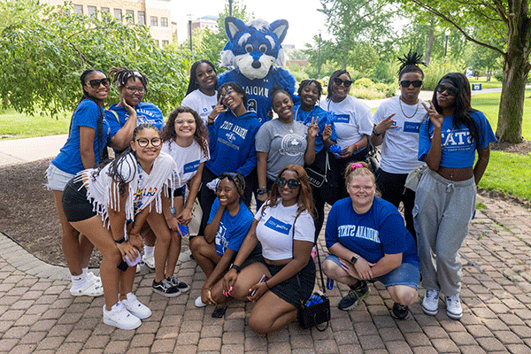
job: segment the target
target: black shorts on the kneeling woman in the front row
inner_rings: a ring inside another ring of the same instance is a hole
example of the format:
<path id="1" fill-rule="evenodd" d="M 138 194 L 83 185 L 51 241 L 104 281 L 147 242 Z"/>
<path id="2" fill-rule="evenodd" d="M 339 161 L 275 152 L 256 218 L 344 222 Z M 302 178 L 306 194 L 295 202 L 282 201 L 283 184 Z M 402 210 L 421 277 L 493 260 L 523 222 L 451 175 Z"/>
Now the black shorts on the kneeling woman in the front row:
<path id="1" fill-rule="evenodd" d="M 271 266 L 264 263 L 269 269 L 271 276 L 279 273 L 284 266 Z M 282 281 L 280 284 L 271 288 L 274 295 L 279 296 L 282 300 L 288 304 L 292 304 L 296 309 L 301 307 L 301 301 L 306 301 L 312 296 L 313 287 L 315 286 L 315 263 L 313 259 L 297 274 L 299 281 L 296 280 L 297 276 L 293 276 L 286 281 Z"/>

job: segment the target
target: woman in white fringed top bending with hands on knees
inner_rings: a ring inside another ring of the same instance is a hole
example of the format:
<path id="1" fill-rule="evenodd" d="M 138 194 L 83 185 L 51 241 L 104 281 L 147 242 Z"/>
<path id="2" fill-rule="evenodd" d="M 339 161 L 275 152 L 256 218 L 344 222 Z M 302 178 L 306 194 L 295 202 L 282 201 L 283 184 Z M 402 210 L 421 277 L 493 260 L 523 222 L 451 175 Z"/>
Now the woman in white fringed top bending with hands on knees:
<path id="1" fill-rule="evenodd" d="M 121 329 L 135 329 L 151 315 L 131 292 L 135 266 L 122 272 L 117 265 L 140 259 L 139 231 L 146 219 L 151 227 L 165 222 L 160 191 L 173 187 L 175 163 L 159 154 L 161 146 L 158 128 L 142 124 L 135 128 L 130 149 L 101 169 L 78 173 L 63 193 L 66 219 L 104 256 L 104 323 Z"/>

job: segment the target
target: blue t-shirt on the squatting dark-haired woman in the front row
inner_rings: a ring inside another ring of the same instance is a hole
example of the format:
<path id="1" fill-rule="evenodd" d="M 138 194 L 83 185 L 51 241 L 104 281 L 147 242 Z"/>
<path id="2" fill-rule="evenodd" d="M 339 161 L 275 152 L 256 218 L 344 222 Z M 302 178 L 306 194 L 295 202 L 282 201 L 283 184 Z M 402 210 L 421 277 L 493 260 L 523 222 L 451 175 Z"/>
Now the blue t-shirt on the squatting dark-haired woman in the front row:
<path id="1" fill-rule="evenodd" d="M 214 200 L 208 223 L 212 222 L 216 212 L 219 210 L 219 199 Z M 240 211 L 235 215 L 230 215 L 230 212 L 223 211 L 221 221 L 219 221 L 218 232 L 216 233 L 216 253 L 219 256 L 223 256 L 225 250 L 234 250 L 237 252 L 242 246 L 242 242 L 245 236 L 249 232 L 250 224 L 254 216 L 252 212 L 245 206 L 243 202 L 240 202 Z"/>

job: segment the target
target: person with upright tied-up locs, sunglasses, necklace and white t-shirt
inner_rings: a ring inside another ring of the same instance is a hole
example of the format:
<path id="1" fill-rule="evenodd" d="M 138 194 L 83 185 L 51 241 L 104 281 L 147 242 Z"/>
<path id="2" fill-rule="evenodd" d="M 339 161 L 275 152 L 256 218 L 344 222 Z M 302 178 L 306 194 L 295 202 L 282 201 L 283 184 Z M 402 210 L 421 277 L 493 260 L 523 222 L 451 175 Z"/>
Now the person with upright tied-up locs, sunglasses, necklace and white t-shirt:
<path id="1" fill-rule="evenodd" d="M 415 192 L 404 187 L 408 173 L 421 162 L 419 152 L 419 127 L 427 119 L 424 101 L 419 99 L 424 73 L 419 65 L 422 56 L 416 52 L 398 58 L 402 65 L 398 71 L 400 96 L 383 101 L 373 116 L 371 143 L 381 145 L 381 164 L 376 173 L 376 185 L 381 197 L 394 204 L 404 203 L 404 219 L 407 230 L 416 239 L 413 225 Z"/>

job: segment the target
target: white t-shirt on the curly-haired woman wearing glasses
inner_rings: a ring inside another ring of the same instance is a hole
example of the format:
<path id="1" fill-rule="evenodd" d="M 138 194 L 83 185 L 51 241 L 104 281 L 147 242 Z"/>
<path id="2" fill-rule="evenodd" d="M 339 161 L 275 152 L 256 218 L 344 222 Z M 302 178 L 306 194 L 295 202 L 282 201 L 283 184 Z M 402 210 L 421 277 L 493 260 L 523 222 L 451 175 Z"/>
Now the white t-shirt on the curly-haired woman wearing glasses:
<path id="1" fill-rule="evenodd" d="M 175 182 L 176 189 L 181 188 L 191 180 L 196 175 L 199 165 L 210 159 L 210 151 L 206 150 L 206 155 L 204 155 L 201 146 L 195 139 L 188 148 L 182 148 L 173 140 L 164 142 L 162 151 L 169 154 L 177 164 L 176 171 L 178 171 L 181 181 Z"/>

